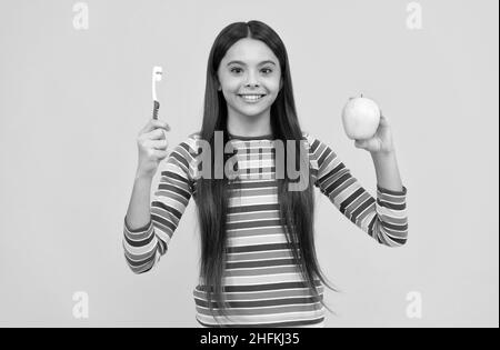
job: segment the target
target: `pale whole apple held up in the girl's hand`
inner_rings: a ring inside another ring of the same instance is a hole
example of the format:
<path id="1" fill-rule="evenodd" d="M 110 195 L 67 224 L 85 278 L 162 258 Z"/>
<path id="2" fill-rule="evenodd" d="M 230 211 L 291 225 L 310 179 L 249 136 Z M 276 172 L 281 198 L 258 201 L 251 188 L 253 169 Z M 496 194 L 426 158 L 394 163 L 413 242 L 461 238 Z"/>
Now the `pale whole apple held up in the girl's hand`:
<path id="1" fill-rule="evenodd" d="M 380 109 L 373 100 L 361 94 L 351 98 L 342 110 L 343 130 L 349 139 L 366 140 L 372 138 L 380 122 Z"/>

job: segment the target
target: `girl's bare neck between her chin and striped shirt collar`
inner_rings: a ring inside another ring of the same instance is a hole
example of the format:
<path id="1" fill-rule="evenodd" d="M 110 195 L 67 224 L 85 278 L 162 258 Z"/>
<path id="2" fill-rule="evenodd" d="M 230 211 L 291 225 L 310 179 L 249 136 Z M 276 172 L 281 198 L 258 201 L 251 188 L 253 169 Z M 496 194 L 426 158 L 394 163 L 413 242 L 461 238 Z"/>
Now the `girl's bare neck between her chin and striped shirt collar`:
<path id="1" fill-rule="evenodd" d="M 228 132 L 241 137 L 260 137 L 272 133 L 270 110 L 259 116 L 243 116 L 228 111 Z"/>

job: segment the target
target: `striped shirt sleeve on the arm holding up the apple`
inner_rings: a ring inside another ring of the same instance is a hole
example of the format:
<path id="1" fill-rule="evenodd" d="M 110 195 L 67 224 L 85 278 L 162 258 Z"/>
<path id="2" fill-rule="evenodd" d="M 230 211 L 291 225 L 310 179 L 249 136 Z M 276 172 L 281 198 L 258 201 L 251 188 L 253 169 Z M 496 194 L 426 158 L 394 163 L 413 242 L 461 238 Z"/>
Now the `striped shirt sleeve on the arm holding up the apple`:
<path id="1" fill-rule="evenodd" d="M 407 188 L 392 191 L 377 184 L 373 198 L 346 168 L 330 147 L 306 134 L 314 186 L 352 223 L 389 247 L 407 242 Z"/>

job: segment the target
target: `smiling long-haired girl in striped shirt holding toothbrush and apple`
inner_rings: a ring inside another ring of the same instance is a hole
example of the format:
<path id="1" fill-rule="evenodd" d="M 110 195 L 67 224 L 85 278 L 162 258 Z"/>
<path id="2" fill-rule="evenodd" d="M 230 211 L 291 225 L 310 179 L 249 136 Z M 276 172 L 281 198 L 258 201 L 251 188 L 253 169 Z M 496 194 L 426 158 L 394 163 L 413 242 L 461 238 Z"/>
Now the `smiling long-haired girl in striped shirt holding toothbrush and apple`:
<path id="1" fill-rule="evenodd" d="M 166 122 L 152 119 L 139 133 L 124 254 L 136 273 L 156 266 L 193 197 L 201 231 L 200 283 L 193 297 L 202 326 L 323 327 L 323 286 L 333 288 L 316 257 L 310 184 L 379 243 L 399 247 L 407 240 L 407 189 L 387 119 L 381 118 L 372 139 L 356 141 L 373 158 L 374 199 L 327 144 L 302 132 L 287 50 L 260 21 L 232 23 L 217 37 L 208 60 L 201 131 L 168 153 L 168 130 Z M 232 163 L 231 153 L 220 154 L 216 147 L 218 133 L 233 151 Z M 297 142 L 286 148 L 284 159 L 308 166 L 304 190 L 292 191 L 292 179 L 277 177 L 274 144 L 287 140 Z M 210 157 L 200 162 L 201 150 Z M 150 203 L 152 178 L 166 158 Z M 221 158 L 226 171 L 217 177 Z M 211 176 L 201 176 L 204 167 Z"/>

